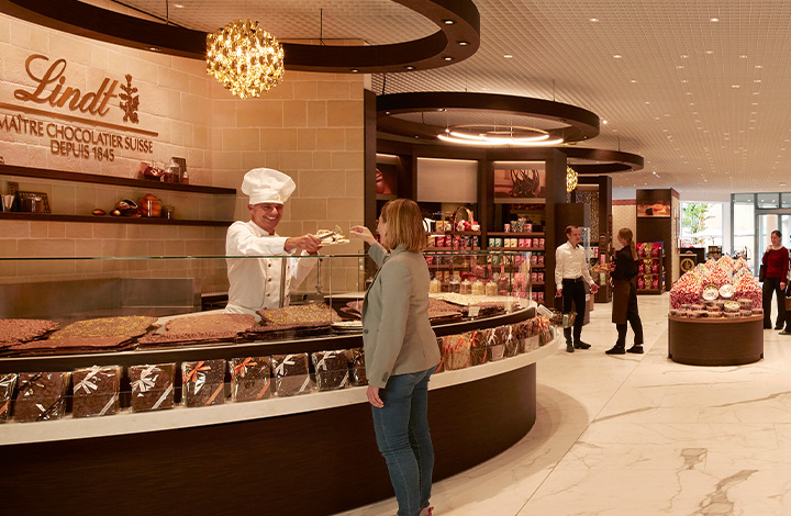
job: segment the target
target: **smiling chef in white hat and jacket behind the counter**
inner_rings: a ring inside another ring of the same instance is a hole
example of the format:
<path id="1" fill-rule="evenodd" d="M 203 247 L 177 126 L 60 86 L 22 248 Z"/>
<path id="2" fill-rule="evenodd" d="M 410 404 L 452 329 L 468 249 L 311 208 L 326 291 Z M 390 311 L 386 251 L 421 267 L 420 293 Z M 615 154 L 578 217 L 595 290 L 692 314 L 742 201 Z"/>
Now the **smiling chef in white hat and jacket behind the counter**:
<path id="1" fill-rule="evenodd" d="M 321 240 L 315 235 L 296 238 L 279 236 L 275 228 L 282 218 L 283 203 L 297 186 L 287 175 L 269 168 L 247 172 L 242 192 L 249 195 L 249 222 L 234 222 L 225 238 L 226 256 L 316 255 Z M 226 314 L 258 315 L 261 309 L 287 306 L 291 285 L 304 280 L 314 259 L 229 258 L 229 304 Z M 283 273 L 285 272 L 285 273 Z M 281 287 L 281 283 L 285 283 Z M 282 295 L 281 295 L 282 294 Z"/>

